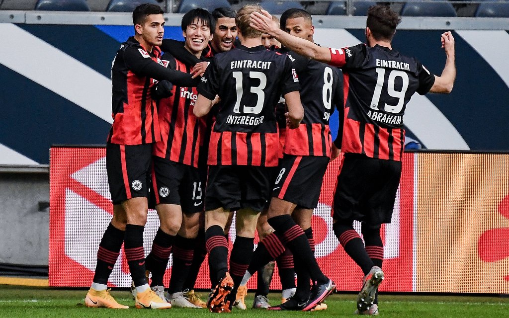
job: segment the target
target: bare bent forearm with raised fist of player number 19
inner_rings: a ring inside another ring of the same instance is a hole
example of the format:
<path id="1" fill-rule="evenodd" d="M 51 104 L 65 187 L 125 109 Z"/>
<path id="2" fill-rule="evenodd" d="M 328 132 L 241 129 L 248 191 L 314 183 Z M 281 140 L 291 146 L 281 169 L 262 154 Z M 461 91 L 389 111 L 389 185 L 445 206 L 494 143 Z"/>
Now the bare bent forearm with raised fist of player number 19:
<path id="1" fill-rule="evenodd" d="M 456 64 L 455 64 L 455 47 L 453 34 L 445 32 L 441 36 L 442 47 L 445 50 L 447 59 L 445 60 L 444 70 L 442 75 L 435 75 L 435 83 L 431 86 L 431 93 L 450 93 L 453 90 L 454 81 L 456 79 Z"/>

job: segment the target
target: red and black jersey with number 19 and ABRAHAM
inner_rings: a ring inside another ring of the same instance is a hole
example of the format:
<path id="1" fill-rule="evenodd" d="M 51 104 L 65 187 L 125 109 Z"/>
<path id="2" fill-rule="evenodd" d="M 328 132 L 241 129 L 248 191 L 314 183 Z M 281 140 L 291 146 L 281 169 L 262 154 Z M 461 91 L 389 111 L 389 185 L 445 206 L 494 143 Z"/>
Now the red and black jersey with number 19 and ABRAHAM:
<path id="1" fill-rule="evenodd" d="M 330 53 L 330 65 L 340 67 L 344 77 L 342 151 L 401 161 L 406 105 L 415 92 L 428 93 L 435 76 L 414 57 L 379 45 Z"/>

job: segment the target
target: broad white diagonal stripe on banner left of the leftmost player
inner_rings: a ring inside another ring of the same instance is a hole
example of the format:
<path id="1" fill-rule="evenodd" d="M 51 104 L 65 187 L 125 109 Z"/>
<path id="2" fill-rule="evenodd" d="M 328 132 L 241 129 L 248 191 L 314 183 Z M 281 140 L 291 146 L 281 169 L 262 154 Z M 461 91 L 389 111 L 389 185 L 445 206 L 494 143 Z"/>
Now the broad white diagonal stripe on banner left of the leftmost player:
<path id="1" fill-rule="evenodd" d="M 104 121 L 113 122 L 110 79 L 12 23 L 0 23 L 0 33 L 4 45 L 1 64 Z M 9 47 L 30 48 L 34 54 L 27 59 L 23 54 L 13 54 L 6 49 Z"/>

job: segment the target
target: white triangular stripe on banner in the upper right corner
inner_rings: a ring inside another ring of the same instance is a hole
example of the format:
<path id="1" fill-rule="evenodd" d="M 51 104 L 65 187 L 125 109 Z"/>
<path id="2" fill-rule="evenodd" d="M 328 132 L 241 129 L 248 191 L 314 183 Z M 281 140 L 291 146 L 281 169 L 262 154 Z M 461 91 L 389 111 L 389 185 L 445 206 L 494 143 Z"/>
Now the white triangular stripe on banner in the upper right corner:
<path id="1" fill-rule="evenodd" d="M 505 30 L 456 30 L 456 32 L 472 46 L 480 56 L 509 86 L 509 68 L 507 68 L 507 52 L 509 52 L 509 34 Z M 493 48 L 493 39 L 497 39 Z M 506 52 L 500 54 L 500 52 Z"/>

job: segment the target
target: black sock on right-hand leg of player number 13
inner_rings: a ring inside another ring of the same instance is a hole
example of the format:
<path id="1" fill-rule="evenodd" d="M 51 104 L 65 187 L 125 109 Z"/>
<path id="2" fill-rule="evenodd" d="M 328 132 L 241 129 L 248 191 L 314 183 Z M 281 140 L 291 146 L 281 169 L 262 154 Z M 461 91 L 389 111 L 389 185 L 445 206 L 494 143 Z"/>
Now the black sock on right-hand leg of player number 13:
<path id="1" fill-rule="evenodd" d="M 246 273 L 247 267 L 251 262 L 254 250 L 254 238 L 245 238 L 237 236 L 233 243 L 232 253 L 230 254 L 230 275 L 233 279 L 233 291 L 231 300 L 235 301 L 237 288 Z"/>

